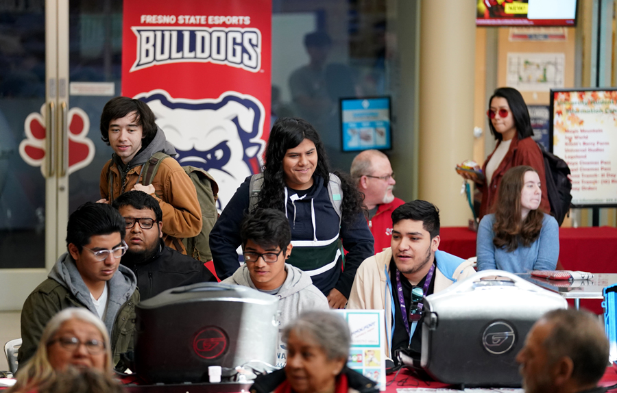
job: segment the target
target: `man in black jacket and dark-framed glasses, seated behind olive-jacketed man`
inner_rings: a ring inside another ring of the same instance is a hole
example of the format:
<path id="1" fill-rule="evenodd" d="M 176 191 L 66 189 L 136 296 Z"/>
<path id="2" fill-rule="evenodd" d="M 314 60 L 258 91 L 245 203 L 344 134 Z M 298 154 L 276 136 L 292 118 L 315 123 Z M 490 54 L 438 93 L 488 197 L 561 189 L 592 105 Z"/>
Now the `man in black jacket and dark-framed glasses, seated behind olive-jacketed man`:
<path id="1" fill-rule="evenodd" d="M 128 250 L 121 264 L 137 276 L 141 300 L 169 288 L 217 281 L 202 262 L 165 245 L 162 210 L 156 199 L 142 191 L 129 191 L 117 197 L 112 206 L 126 224 Z"/>

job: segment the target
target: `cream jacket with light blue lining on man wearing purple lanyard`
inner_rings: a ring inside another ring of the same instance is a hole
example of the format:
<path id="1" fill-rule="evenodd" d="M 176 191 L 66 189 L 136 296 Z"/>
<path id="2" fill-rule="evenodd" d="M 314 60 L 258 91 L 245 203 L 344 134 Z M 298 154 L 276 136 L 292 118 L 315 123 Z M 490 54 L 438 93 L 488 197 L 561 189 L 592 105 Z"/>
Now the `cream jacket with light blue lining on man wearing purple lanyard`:
<path id="1" fill-rule="evenodd" d="M 385 310 L 386 335 L 392 329 L 392 292 L 387 289 L 387 278 L 392 259 L 392 249 L 386 249 L 362 262 L 356 271 L 356 278 L 349 296 L 347 309 L 383 309 Z M 476 270 L 472 262 L 455 257 L 444 251 L 435 251 L 437 269 L 435 269 L 435 286 L 433 293 L 445 290 L 459 279 L 473 275 Z M 387 293 L 386 293 L 387 292 Z M 390 355 L 392 338 L 387 338 L 386 356 Z"/>

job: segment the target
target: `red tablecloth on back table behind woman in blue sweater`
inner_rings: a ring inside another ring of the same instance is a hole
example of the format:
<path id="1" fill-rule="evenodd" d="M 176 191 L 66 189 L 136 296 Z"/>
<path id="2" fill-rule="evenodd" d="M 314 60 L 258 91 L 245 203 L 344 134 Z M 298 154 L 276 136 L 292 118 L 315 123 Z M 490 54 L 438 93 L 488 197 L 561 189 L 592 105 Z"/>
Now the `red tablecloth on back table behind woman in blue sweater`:
<path id="1" fill-rule="evenodd" d="M 461 258 L 476 255 L 476 233 L 465 227 L 442 227 L 439 249 Z M 617 273 L 617 228 L 559 228 L 559 262 L 566 270 Z M 581 307 L 602 314 L 600 300 L 581 300 Z"/>

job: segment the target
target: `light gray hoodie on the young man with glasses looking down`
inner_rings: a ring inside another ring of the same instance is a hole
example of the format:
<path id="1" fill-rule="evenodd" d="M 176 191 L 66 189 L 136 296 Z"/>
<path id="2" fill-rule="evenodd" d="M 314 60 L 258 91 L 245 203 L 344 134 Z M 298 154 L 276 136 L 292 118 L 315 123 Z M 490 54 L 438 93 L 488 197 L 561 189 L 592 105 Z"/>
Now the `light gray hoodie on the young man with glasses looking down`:
<path id="1" fill-rule="evenodd" d="M 278 290 L 278 344 L 276 346 L 276 366 L 284 367 L 287 364 L 287 347 L 282 342 L 281 330 L 285 325 L 294 320 L 302 312 L 313 309 L 330 309 L 328 299 L 313 285 L 311 276 L 305 272 L 285 264 L 287 279 Z M 250 272 L 246 265 L 241 266 L 232 277 L 221 281 L 223 283 L 236 284 L 239 286 L 257 289 L 251 280 Z"/>

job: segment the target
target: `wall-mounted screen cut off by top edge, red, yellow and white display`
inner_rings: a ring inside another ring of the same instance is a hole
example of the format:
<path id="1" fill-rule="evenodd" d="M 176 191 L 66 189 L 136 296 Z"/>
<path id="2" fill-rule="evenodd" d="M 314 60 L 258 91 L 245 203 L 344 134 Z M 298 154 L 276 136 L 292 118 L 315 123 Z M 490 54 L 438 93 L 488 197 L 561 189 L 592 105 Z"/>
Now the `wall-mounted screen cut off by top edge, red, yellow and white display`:
<path id="1" fill-rule="evenodd" d="M 575 26 L 577 0 L 477 0 L 478 26 Z"/>

